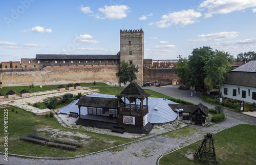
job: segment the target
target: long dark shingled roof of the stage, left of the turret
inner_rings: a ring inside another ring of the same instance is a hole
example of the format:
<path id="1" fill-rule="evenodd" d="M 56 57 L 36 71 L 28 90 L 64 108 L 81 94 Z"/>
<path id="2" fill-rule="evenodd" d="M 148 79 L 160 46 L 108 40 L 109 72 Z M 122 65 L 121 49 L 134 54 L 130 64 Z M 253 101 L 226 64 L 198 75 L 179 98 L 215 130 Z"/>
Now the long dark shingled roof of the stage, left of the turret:
<path id="1" fill-rule="evenodd" d="M 88 106 L 88 107 L 99 107 L 99 108 L 111 108 L 117 109 L 118 99 L 117 98 L 101 98 L 101 97 L 81 97 L 76 105 Z"/>

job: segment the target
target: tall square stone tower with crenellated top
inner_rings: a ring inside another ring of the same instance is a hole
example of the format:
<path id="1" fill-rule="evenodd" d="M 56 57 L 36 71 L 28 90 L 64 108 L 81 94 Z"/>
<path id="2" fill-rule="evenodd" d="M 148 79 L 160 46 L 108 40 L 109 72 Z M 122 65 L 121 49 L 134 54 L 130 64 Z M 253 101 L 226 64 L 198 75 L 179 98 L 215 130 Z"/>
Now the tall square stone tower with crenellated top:
<path id="1" fill-rule="evenodd" d="M 139 67 L 136 73 L 138 85 L 143 85 L 144 32 L 140 30 L 120 30 L 120 61 L 133 63 Z"/>

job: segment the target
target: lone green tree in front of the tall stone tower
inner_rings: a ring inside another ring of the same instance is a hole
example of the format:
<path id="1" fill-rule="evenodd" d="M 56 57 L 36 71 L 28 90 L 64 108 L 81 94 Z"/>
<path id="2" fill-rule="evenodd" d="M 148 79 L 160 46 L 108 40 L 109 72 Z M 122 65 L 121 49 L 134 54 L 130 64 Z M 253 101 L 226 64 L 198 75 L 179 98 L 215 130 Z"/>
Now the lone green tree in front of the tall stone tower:
<path id="1" fill-rule="evenodd" d="M 118 66 L 118 72 L 116 73 L 116 76 L 119 78 L 119 84 L 123 83 L 125 88 L 127 81 L 131 82 L 133 79 L 137 79 L 136 73 L 139 72 L 138 69 L 139 67 L 134 64 L 121 61 Z"/>

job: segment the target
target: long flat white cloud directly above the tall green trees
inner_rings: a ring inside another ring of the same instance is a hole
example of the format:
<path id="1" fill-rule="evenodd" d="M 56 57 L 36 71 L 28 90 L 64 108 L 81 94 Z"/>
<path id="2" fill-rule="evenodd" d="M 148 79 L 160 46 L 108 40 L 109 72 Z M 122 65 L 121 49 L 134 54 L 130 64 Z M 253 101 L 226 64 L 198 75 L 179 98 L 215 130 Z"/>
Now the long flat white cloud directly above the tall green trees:
<path id="1" fill-rule="evenodd" d="M 224 39 L 236 38 L 239 32 L 220 32 L 207 35 L 199 35 L 194 40 L 188 41 L 220 41 Z"/>

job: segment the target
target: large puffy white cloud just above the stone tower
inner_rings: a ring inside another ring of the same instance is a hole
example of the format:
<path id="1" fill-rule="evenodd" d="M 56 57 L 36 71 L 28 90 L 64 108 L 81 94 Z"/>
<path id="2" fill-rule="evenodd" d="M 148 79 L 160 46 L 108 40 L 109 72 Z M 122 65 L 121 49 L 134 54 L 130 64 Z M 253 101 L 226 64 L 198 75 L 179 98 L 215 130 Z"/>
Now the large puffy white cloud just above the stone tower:
<path id="1" fill-rule="evenodd" d="M 104 14 L 104 17 L 101 17 L 99 14 L 96 14 L 96 18 L 100 19 L 122 19 L 127 16 L 127 13 L 130 13 L 130 8 L 125 5 L 116 5 L 116 6 L 104 6 L 104 8 L 99 8 L 98 11 Z"/>

